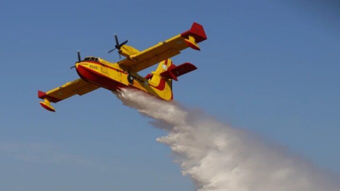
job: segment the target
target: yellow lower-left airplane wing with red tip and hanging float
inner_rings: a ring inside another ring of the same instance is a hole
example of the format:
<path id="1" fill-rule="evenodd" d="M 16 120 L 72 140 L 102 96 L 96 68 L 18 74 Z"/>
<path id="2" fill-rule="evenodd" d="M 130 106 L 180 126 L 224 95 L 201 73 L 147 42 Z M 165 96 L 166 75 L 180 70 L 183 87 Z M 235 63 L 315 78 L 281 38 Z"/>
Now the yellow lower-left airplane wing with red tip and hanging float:
<path id="1" fill-rule="evenodd" d="M 46 93 L 38 91 L 38 97 L 40 99 L 44 99 L 44 102 L 40 102 L 41 106 L 49 111 L 55 112 L 55 109 L 51 106 L 50 102 L 57 103 L 76 94 L 84 95 L 98 88 L 99 86 L 95 84 L 88 83 L 82 79 L 78 79 L 72 82 L 67 82 L 66 84 L 52 89 Z"/>

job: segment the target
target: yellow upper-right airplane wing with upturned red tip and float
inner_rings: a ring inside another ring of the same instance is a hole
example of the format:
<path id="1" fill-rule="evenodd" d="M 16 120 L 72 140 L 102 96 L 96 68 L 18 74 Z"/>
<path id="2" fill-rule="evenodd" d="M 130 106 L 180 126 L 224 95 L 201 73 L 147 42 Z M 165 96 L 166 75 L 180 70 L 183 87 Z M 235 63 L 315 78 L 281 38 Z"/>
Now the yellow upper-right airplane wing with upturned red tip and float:
<path id="1" fill-rule="evenodd" d="M 181 53 L 182 50 L 190 47 L 200 50 L 197 43 L 207 39 L 203 26 L 194 23 L 189 31 L 177 35 L 171 39 L 160 42 L 153 47 L 145 49 L 141 52 L 131 51 L 130 54 L 123 52 L 123 56 L 127 58 L 118 62 L 119 65 L 132 69 L 135 72 L 148 68 L 156 63 L 171 58 Z M 124 48 L 123 45 L 122 47 Z M 124 51 L 124 49 L 122 49 Z M 120 51 L 120 53 L 122 53 Z"/>

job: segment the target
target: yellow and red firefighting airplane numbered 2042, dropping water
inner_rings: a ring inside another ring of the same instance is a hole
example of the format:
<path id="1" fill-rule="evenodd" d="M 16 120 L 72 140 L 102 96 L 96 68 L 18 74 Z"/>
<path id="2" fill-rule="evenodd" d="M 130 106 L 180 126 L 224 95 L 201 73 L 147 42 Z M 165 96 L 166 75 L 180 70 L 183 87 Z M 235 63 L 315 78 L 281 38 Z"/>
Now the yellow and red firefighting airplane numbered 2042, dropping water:
<path id="1" fill-rule="evenodd" d="M 57 103 L 75 94 L 84 95 L 100 87 L 111 91 L 132 87 L 164 100 L 172 100 L 172 81 L 178 81 L 179 76 L 197 68 L 191 63 L 176 66 L 169 58 L 180 54 L 188 47 L 200 50 L 197 43 L 207 39 L 203 26 L 198 23 L 194 23 L 190 30 L 143 51 L 126 45 L 127 40 L 119 44 L 117 35 L 114 37 L 115 48 L 108 53 L 117 49 L 119 57 L 122 55 L 126 57 L 125 59 L 117 63 L 111 63 L 98 57 L 85 57 L 82 60 L 78 51 L 78 62 L 71 68 L 76 68 L 80 78 L 46 93 L 38 91 L 38 97 L 44 99 L 40 105 L 55 112 L 51 102 Z M 145 77 L 137 74 L 156 63 L 159 65 L 151 74 L 147 74 Z"/>

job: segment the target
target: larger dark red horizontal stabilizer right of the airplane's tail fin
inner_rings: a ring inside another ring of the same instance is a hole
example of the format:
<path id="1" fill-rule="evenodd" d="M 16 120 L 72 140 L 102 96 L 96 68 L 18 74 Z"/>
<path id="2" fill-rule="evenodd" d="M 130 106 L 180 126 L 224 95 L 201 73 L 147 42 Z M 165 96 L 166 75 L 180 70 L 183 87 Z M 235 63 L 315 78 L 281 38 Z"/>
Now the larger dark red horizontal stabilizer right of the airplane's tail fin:
<path id="1" fill-rule="evenodd" d="M 173 79 L 178 81 L 177 77 L 187 74 L 197 67 L 189 62 L 181 64 L 179 66 L 171 65 L 165 72 L 160 73 L 160 76 L 167 79 Z"/>

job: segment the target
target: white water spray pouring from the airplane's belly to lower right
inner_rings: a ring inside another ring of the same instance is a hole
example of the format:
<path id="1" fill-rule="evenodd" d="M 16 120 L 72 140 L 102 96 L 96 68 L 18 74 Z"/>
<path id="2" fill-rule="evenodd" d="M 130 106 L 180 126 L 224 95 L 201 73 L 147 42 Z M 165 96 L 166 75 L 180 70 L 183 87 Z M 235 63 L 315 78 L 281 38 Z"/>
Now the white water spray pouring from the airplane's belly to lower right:
<path id="1" fill-rule="evenodd" d="M 140 91 L 124 89 L 116 95 L 168 132 L 157 141 L 178 155 L 183 175 L 198 191 L 340 190 L 331 175 L 249 132 Z"/>

